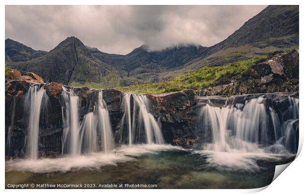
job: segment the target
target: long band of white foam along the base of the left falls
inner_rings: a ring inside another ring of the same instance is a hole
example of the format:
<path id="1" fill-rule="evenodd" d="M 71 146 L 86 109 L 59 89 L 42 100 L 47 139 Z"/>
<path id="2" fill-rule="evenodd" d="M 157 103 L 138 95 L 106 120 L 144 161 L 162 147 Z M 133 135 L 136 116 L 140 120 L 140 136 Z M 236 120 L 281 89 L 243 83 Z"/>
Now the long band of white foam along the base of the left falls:
<path id="1" fill-rule="evenodd" d="M 70 171 L 79 169 L 100 169 L 103 166 L 117 165 L 118 163 L 134 161 L 133 156 L 142 154 L 157 154 L 159 151 L 185 150 L 179 146 L 161 144 L 133 144 L 132 147 L 123 145 L 111 153 L 94 152 L 80 156 L 67 155 L 62 158 L 42 158 L 39 160 L 15 159 L 5 162 L 5 171 L 31 171 L 47 173 L 56 171 Z"/>

